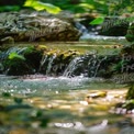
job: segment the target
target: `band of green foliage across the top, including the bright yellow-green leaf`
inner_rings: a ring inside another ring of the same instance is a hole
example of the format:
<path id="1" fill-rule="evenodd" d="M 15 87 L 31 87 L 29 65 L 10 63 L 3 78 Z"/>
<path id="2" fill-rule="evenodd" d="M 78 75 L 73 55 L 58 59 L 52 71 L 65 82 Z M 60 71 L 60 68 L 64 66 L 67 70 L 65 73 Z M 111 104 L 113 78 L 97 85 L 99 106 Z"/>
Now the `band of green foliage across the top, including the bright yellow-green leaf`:
<path id="1" fill-rule="evenodd" d="M 0 3 L 7 3 L 5 7 L 0 7 L 0 11 L 19 10 L 24 1 L 24 7 L 46 10 L 51 13 L 58 13 L 60 9 L 71 12 L 96 12 L 107 15 L 121 15 L 134 11 L 133 0 L 13 0 L 12 4 L 5 1 L 8 0 L 0 1 Z"/>

